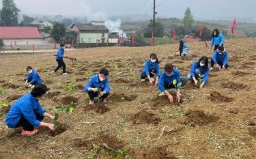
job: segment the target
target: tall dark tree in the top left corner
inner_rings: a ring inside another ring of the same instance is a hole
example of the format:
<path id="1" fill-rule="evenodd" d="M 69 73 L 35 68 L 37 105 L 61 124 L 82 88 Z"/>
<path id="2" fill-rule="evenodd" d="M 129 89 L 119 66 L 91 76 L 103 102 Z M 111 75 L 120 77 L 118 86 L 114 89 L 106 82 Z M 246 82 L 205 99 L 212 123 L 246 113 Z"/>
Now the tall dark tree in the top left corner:
<path id="1" fill-rule="evenodd" d="M 17 26 L 18 25 L 18 12 L 14 0 L 3 0 L 3 8 L 1 11 L 1 25 L 4 26 Z"/>

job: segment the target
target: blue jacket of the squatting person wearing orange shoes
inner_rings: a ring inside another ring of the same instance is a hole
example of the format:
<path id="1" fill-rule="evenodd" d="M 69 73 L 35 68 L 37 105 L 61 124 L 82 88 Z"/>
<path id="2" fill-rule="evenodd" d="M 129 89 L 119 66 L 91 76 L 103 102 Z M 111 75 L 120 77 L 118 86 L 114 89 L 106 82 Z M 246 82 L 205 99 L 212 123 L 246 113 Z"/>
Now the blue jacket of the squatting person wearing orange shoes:
<path id="1" fill-rule="evenodd" d="M 33 111 L 38 112 L 40 115 L 44 115 L 46 112 L 44 109 L 42 109 L 38 100 L 33 98 L 31 93 L 27 93 L 25 96 L 14 102 L 10 111 L 5 117 L 5 124 L 9 128 L 14 128 L 16 124 L 18 124 L 21 115 L 23 115 L 31 125 L 38 127 L 41 121 L 36 119 L 35 113 L 33 113 Z"/>

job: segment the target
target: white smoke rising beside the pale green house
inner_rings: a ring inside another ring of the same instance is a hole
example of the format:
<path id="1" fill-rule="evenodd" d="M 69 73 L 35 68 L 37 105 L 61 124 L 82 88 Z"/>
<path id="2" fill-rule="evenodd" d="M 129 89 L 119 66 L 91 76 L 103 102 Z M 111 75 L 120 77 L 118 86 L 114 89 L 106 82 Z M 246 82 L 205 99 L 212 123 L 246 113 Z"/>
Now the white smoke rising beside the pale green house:
<path id="1" fill-rule="evenodd" d="M 123 35 L 123 37 L 126 37 L 126 33 L 121 29 L 122 21 L 121 19 L 117 20 L 106 20 L 105 25 L 109 29 L 110 32 L 118 32 L 119 35 Z"/>

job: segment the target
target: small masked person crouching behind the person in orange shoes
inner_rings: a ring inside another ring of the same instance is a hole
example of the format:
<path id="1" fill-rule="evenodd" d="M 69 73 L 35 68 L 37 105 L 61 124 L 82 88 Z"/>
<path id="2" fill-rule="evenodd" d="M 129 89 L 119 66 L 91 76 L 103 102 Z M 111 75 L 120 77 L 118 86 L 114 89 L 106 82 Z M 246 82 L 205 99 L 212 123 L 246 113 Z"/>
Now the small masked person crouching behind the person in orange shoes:
<path id="1" fill-rule="evenodd" d="M 25 82 L 25 87 L 33 88 L 35 85 L 39 85 L 42 83 L 42 80 L 35 70 L 32 69 L 31 66 L 27 66 L 27 77 Z"/>

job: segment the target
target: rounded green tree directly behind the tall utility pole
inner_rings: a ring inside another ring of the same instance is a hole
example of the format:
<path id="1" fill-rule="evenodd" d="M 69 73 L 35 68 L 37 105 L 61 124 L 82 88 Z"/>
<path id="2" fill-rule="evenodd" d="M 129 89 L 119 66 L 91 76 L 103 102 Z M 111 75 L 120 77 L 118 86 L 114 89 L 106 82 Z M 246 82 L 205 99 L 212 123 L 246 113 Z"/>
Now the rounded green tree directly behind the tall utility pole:
<path id="1" fill-rule="evenodd" d="M 150 20 L 150 24 L 147 26 L 147 28 L 144 31 L 144 37 L 150 38 L 153 31 L 153 20 Z M 159 21 L 156 21 L 155 23 L 155 37 L 162 38 L 164 36 L 164 26 Z"/>

